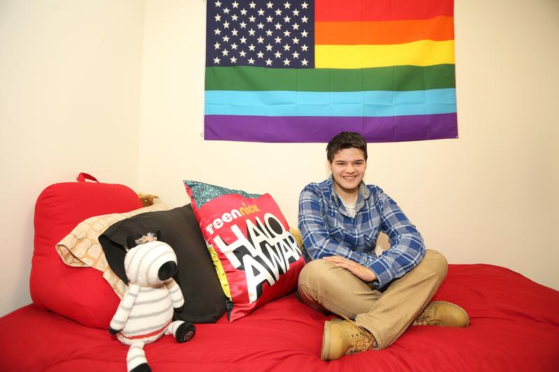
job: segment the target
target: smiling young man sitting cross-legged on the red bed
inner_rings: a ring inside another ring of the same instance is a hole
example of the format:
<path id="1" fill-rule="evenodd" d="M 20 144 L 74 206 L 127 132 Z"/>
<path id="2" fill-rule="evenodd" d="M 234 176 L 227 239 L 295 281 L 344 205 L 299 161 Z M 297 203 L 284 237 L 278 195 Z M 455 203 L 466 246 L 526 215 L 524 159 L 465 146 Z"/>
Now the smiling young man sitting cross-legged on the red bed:
<path id="1" fill-rule="evenodd" d="M 331 177 L 308 184 L 299 199 L 307 265 L 298 296 L 342 318 L 325 322 L 321 359 L 386 348 L 409 325 L 466 327 L 463 308 L 430 302 L 447 274 L 447 260 L 426 250 L 415 226 L 381 188 L 363 182 L 363 136 L 342 132 L 326 152 Z M 380 232 L 391 245 L 377 256 Z"/>

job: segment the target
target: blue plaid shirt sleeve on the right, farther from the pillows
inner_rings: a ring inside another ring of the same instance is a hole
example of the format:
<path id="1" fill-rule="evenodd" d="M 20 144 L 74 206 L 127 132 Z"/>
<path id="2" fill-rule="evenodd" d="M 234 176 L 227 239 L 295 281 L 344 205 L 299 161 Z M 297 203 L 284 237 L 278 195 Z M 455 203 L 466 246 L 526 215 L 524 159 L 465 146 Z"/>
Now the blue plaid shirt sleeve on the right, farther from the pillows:
<path id="1" fill-rule="evenodd" d="M 377 276 L 378 284 L 375 284 L 382 288 L 416 267 L 425 256 L 425 245 L 423 237 L 398 204 L 382 190 L 378 198 L 381 230 L 388 235 L 390 248 L 369 262 L 367 267 Z"/>

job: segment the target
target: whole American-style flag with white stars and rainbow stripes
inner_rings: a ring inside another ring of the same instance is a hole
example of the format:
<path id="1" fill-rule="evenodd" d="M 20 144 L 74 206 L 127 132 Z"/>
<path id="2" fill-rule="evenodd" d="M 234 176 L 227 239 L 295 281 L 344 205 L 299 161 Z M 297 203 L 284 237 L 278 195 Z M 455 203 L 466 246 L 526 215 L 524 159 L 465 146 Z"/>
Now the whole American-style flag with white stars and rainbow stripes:
<path id="1" fill-rule="evenodd" d="M 208 0 L 205 140 L 458 137 L 453 0 Z"/>

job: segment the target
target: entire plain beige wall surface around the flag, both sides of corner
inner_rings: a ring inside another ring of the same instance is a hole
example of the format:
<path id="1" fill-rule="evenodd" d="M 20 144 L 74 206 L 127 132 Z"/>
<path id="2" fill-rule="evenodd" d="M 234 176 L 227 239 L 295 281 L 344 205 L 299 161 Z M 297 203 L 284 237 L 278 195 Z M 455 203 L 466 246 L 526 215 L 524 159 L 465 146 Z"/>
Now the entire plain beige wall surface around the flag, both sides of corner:
<path id="1" fill-rule="evenodd" d="M 559 3 L 526 4 L 456 0 L 460 138 L 370 144 L 365 180 L 451 263 L 559 289 Z M 172 206 L 182 179 L 269 192 L 296 223 L 300 189 L 328 177 L 325 144 L 204 142 L 204 23 L 202 0 L 0 2 L 0 281 L 21 283 L 0 315 L 29 302 L 34 200 L 79 170 Z"/>

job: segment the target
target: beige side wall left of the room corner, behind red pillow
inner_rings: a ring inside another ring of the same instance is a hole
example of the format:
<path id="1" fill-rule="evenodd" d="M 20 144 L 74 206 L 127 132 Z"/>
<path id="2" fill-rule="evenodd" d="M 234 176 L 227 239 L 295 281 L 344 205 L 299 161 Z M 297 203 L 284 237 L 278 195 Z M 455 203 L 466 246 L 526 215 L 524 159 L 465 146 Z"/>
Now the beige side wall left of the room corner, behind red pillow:
<path id="1" fill-rule="evenodd" d="M 136 185 L 143 1 L 0 1 L 0 315 L 31 302 L 39 193 Z"/>

